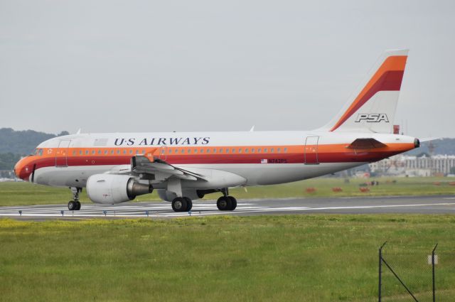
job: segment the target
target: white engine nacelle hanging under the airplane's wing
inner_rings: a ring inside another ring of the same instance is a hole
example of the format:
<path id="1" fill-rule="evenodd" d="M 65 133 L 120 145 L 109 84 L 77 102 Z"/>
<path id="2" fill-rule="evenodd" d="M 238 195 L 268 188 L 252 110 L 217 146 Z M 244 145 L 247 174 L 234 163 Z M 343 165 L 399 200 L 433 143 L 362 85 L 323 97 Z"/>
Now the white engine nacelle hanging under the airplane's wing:
<path id="1" fill-rule="evenodd" d="M 87 179 L 87 195 L 94 203 L 124 203 L 136 196 L 151 193 L 151 185 L 138 183 L 127 175 L 95 174 Z"/>

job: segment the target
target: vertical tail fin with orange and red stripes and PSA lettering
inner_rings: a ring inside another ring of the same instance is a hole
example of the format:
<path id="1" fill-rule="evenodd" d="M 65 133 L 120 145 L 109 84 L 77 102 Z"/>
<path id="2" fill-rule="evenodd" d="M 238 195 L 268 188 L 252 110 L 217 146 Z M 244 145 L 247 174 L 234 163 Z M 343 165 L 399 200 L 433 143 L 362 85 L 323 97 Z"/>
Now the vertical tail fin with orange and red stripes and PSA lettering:
<path id="1" fill-rule="evenodd" d="M 408 50 L 387 50 L 360 92 L 323 129 L 392 133 Z"/>

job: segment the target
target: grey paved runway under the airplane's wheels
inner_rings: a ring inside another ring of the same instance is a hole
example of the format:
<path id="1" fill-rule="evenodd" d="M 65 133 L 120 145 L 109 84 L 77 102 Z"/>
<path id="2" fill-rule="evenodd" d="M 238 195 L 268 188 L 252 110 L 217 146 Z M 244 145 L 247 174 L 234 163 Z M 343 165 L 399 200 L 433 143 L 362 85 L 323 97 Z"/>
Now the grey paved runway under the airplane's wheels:
<path id="1" fill-rule="evenodd" d="M 277 214 L 455 214 L 455 196 L 412 196 L 372 198 L 289 198 L 238 200 L 235 211 L 220 211 L 215 200 L 194 201 L 191 212 L 173 212 L 171 203 L 141 202 L 119 205 L 83 203 L 79 211 L 66 204 L 0 207 L 0 217 L 26 220 L 90 218 L 175 218 L 211 215 L 277 215 Z"/>

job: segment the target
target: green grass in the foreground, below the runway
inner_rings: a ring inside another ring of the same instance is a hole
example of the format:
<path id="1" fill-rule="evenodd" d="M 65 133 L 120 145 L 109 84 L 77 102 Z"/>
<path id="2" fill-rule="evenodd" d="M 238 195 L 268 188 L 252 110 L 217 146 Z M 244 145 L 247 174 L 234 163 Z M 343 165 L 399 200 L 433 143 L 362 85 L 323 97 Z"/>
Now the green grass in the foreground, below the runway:
<path id="1" fill-rule="evenodd" d="M 377 301 L 385 240 L 387 259 L 428 297 L 431 284 L 416 279 L 427 278 L 435 242 L 454 249 L 454 233 L 451 215 L 6 219 L 0 301 Z M 404 247 L 423 258 L 394 262 Z M 437 266 L 438 301 L 454 300 L 451 255 Z M 387 273 L 385 286 L 384 301 L 404 296 Z"/>

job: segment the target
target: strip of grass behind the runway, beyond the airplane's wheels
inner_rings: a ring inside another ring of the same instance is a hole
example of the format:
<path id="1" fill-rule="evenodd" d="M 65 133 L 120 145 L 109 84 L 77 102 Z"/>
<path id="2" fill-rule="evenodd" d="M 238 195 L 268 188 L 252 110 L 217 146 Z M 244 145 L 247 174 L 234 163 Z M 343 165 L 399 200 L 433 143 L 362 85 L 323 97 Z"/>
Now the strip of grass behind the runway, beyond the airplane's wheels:
<path id="1" fill-rule="evenodd" d="M 373 179 L 373 178 L 372 178 Z M 441 195 L 455 194 L 455 179 L 452 178 L 374 178 L 380 185 L 368 187 L 369 192 L 360 192 L 360 183 L 365 179 L 351 178 L 345 183 L 341 178 L 314 178 L 284 185 L 267 185 L 230 190 L 230 194 L 238 199 L 247 198 L 291 198 L 291 197 L 335 197 L 335 196 L 366 196 L 366 195 Z M 395 182 L 394 182 L 395 180 Z M 314 192 L 307 189 L 314 188 Z M 341 188 L 341 192 L 333 192 L 333 188 Z M 72 198 L 68 188 L 50 188 L 30 183 L 0 183 L 1 205 L 38 205 L 68 203 Z M 218 194 L 219 195 L 219 194 Z M 216 199 L 217 194 L 207 195 L 205 199 Z M 142 195 L 135 201 L 159 200 L 156 193 Z M 81 195 L 82 203 L 90 202 Z"/>

